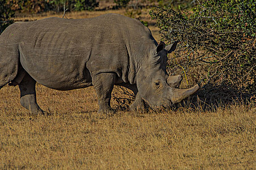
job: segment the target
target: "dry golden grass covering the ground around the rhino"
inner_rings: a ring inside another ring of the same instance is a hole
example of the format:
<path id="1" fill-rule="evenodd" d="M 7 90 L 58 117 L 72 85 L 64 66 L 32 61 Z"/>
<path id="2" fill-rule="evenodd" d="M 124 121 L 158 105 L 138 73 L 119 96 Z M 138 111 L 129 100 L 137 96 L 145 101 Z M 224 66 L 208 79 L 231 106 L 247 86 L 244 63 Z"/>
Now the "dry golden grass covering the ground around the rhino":
<path id="1" fill-rule="evenodd" d="M 130 112 L 118 111 L 113 101 L 117 113 L 108 116 L 97 113 L 93 87 L 57 91 L 37 85 L 37 98 L 48 115 L 31 116 L 21 107 L 18 86 L 0 90 L 0 170 L 256 167 L 255 103 L 207 112 Z"/>

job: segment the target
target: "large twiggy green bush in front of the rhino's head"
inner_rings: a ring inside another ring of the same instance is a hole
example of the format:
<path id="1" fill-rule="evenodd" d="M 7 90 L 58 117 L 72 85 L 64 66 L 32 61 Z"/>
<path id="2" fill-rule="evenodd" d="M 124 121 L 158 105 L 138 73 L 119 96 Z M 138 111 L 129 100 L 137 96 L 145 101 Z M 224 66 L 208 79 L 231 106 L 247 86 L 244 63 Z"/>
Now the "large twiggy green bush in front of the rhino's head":
<path id="1" fill-rule="evenodd" d="M 232 96 L 256 92 L 255 14 L 255 0 L 206 0 L 192 12 L 150 12 L 162 40 L 180 42 L 170 73 L 183 73 L 190 78 L 187 84 L 202 81 L 208 92 L 218 89 Z"/>

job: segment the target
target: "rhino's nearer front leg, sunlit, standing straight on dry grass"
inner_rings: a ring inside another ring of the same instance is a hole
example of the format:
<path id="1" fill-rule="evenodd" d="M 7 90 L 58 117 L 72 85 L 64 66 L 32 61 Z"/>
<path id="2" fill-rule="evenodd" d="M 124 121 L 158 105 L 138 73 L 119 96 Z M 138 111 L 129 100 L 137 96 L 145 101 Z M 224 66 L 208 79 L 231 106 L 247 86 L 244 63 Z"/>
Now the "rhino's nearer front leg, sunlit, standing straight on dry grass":
<path id="1" fill-rule="evenodd" d="M 93 86 L 98 97 L 98 113 L 113 112 L 110 106 L 111 93 L 116 79 L 115 73 L 100 73 L 93 76 Z"/>

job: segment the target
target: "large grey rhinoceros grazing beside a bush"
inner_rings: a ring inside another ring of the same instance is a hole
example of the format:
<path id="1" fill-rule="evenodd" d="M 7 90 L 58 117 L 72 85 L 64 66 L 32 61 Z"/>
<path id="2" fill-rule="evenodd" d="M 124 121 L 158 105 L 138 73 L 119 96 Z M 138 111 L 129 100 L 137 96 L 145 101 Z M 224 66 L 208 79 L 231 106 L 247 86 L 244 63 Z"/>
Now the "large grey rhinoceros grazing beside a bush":
<path id="1" fill-rule="evenodd" d="M 168 78 L 167 53 L 176 45 L 158 45 L 138 20 L 117 14 L 17 22 L 0 35 L 0 88 L 19 85 L 21 105 L 34 114 L 43 113 L 36 82 L 57 90 L 93 85 L 99 112 L 112 110 L 114 85 L 137 95 L 131 109 L 142 108 L 143 100 L 169 107 L 199 88 L 177 89 L 182 77 Z"/>

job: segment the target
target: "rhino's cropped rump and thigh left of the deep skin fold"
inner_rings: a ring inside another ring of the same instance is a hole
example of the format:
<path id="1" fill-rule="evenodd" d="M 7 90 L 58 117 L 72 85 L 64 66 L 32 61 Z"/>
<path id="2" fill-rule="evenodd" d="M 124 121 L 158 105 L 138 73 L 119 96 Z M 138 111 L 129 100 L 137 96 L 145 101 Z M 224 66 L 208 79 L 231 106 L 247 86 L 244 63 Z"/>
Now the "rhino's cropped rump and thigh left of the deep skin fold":
<path id="1" fill-rule="evenodd" d="M 12 37 L 14 30 L 8 28 L 0 35 L 0 87 L 15 79 L 19 69 L 18 44 Z"/>

